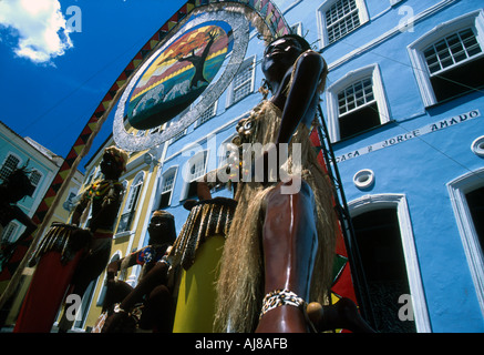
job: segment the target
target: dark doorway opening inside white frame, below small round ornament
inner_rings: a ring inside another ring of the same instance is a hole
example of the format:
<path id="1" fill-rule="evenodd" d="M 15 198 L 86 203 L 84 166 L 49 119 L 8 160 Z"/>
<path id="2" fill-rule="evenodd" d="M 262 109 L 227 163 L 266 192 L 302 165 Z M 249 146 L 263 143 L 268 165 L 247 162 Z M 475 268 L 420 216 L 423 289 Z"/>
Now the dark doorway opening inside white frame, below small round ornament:
<path id="1" fill-rule="evenodd" d="M 397 207 L 382 207 L 352 219 L 361 266 L 373 312 L 373 327 L 382 333 L 414 333 L 412 314 L 402 313 L 410 285 Z M 405 316 L 402 318 L 402 314 Z"/>

